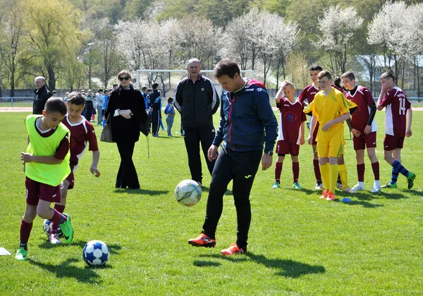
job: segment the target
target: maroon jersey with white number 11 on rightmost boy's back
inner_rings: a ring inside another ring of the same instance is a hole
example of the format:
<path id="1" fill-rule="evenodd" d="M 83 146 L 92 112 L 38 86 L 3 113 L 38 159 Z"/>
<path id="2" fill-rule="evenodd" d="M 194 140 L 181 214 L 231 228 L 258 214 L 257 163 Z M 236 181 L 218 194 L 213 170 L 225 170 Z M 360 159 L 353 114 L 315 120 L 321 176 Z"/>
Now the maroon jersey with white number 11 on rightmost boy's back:
<path id="1" fill-rule="evenodd" d="M 386 92 L 380 104 L 386 108 L 386 135 L 405 137 L 405 113 L 407 113 L 407 109 L 411 108 L 411 104 L 403 90 L 399 87 L 394 87 L 389 92 Z"/>

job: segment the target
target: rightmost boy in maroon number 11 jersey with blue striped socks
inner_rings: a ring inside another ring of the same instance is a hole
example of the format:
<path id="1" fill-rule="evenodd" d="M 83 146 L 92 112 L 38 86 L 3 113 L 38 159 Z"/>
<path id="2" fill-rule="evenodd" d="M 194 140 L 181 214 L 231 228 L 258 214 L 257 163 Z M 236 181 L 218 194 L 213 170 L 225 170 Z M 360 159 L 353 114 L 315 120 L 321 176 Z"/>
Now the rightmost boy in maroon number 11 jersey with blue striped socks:
<path id="1" fill-rule="evenodd" d="M 386 107 L 384 158 L 392 166 L 391 182 L 382 188 L 396 188 L 399 173 L 407 178 L 408 189 L 412 188 L 416 175 L 407 171 L 401 164 L 401 149 L 404 137 L 411 137 L 411 104 L 403 90 L 395 85 L 393 74 L 385 72 L 379 78 L 382 82 L 381 93 L 377 101 L 380 111 Z"/>

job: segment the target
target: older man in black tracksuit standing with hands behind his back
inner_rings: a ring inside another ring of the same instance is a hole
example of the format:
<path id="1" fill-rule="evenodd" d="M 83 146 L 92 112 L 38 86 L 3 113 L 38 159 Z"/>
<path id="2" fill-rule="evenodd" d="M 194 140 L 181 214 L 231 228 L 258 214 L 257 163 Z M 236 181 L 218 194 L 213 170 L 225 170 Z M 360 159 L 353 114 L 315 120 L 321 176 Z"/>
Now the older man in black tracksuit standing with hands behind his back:
<path id="1" fill-rule="evenodd" d="M 200 142 L 207 168 L 212 175 L 214 160 L 207 158 L 207 149 L 213 142 L 213 114 L 219 108 L 219 96 L 212 80 L 200 74 L 201 66 L 197 58 L 188 61 L 188 77 L 180 80 L 175 92 L 173 106 L 180 113 L 185 147 L 188 154 L 191 179 L 202 185 Z"/>

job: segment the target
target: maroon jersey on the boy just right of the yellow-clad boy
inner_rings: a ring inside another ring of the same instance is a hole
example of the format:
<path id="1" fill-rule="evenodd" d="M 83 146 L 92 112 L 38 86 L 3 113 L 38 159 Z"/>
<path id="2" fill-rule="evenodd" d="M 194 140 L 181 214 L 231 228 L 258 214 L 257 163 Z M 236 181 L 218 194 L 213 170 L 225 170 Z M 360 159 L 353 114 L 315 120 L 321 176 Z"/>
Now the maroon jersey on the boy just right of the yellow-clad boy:
<path id="1" fill-rule="evenodd" d="M 354 95 L 350 92 L 345 94 L 345 99 L 349 99 L 357 104 L 357 109 L 351 114 L 351 125 L 353 128 L 363 134 L 364 128 L 366 128 L 367 122 L 369 121 L 370 108 L 369 106 L 374 104 L 372 93 L 367 87 L 358 86 Z M 372 132 L 376 132 L 376 121 L 372 121 Z M 363 134 L 364 135 L 364 134 Z"/>

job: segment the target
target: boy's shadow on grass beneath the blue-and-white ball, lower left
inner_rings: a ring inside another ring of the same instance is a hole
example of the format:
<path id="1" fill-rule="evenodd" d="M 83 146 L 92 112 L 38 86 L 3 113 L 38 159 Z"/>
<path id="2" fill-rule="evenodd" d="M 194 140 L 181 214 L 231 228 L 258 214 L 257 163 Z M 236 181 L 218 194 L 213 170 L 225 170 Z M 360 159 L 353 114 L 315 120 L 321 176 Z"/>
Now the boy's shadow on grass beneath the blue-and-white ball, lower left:
<path id="1" fill-rule="evenodd" d="M 33 259 L 27 259 L 27 261 L 32 265 L 44 269 L 45 271 L 56 274 L 57 278 L 75 278 L 78 282 L 92 283 L 95 285 L 102 283 L 102 279 L 94 271 L 94 269 L 89 266 L 86 268 L 79 268 L 78 266 L 73 265 L 73 263 L 79 261 L 78 259 L 66 259 L 61 264 L 45 264 Z M 111 266 L 104 265 L 102 266 L 102 269 L 111 269 Z"/>

